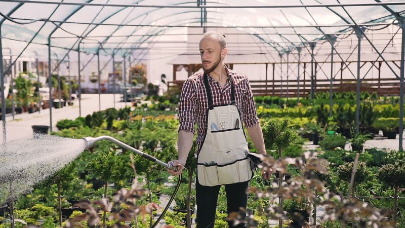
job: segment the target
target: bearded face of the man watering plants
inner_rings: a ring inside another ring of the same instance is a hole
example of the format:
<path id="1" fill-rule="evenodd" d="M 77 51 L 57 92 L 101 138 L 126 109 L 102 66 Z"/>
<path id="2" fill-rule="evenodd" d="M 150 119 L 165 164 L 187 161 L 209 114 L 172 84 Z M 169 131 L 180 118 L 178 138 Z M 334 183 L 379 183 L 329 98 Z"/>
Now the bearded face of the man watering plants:
<path id="1" fill-rule="evenodd" d="M 203 63 L 204 72 L 212 72 L 221 62 L 221 47 L 218 41 L 206 37 L 199 42 L 199 53 Z"/>

